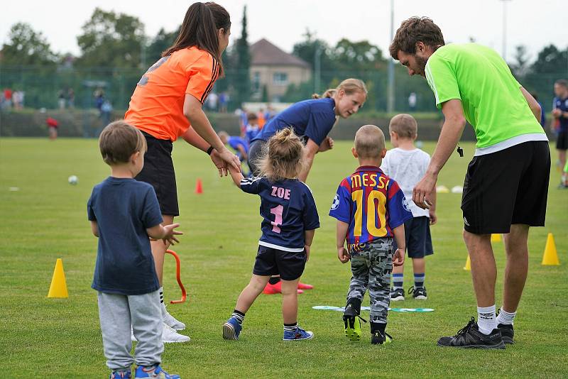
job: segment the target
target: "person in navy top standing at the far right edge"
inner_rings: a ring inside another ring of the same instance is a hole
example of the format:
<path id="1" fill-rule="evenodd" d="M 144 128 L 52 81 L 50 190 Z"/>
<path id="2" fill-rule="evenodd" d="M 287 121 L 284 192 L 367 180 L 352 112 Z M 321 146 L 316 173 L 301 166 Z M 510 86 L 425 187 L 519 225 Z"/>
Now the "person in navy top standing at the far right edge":
<path id="1" fill-rule="evenodd" d="M 559 166 L 562 169 L 566 165 L 568 149 L 568 81 L 566 79 L 555 82 L 555 95 L 552 102 L 552 117 L 554 117 L 552 130 L 557 133 L 556 150 L 558 150 Z"/>

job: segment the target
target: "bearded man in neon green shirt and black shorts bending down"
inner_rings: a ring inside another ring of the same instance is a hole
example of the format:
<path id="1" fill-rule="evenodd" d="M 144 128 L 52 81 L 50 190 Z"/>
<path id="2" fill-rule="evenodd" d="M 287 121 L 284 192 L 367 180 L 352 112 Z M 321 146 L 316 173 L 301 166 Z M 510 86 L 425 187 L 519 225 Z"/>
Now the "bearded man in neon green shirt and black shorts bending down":
<path id="1" fill-rule="evenodd" d="M 495 51 L 475 43 L 445 45 L 442 31 L 430 18 L 403 21 L 389 50 L 409 75 L 426 78 L 445 116 L 427 172 L 413 190 L 418 207 L 430 206 L 438 173 L 466 121 L 477 139 L 461 210 L 478 317 L 477 322 L 471 317 L 455 336 L 439 339 L 438 345 L 505 348 L 513 344 L 513 319 L 528 273 L 528 229 L 545 224 L 550 151 L 538 122 L 540 106 Z M 507 256 L 497 317 L 493 233 L 504 234 Z"/>

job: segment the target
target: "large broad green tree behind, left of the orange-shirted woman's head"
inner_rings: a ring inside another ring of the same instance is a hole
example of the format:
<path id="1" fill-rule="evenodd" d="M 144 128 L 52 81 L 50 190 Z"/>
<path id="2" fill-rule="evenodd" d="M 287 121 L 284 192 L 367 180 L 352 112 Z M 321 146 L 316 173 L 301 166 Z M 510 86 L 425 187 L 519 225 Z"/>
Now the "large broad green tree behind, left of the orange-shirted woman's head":
<path id="1" fill-rule="evenodd" d="M 136 17 L 95 9 L 77 37 L 83 67 L 146 68 L 142 66 L 145 49 L 144 24 Z"/>

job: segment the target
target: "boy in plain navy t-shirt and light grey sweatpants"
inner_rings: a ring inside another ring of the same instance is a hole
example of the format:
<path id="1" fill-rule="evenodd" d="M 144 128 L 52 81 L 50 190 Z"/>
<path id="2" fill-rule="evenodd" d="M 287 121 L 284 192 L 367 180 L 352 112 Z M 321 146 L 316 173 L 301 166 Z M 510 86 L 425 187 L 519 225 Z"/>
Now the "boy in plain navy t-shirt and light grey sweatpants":
<path id="1" fill-rule="evenodd" d="M 154 189 L 134 177 L 142 170 L 146 138 L 124 121 L 110 123 L 99 137 L 99 148 L 111 176 L 94 186 L 87 214 L 99 237 L 92 288 L 99 292 L 104 355 L 110 378 L 131 378 L 134 358 L 131 326 L 138 340 L 136 378 L 179 378 L 160 368 L 162 313 L 158 276 L 150 239 L 178 242 L 163 221 Z"/>

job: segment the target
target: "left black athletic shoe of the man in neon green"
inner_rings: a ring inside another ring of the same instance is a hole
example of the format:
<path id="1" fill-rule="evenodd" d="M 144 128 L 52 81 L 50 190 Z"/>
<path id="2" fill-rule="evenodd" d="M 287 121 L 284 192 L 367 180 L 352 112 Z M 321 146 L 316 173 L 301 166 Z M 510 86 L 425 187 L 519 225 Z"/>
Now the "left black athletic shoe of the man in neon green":
<path id="1" fill-rule="evenodd" d="M 505 348 L 503 337 L 499 329 L 493 329 L 491 334 L 486 335 L 479 331 L 474 317 L 466 326 L 459 329 L 453 337 L 442 337 L 438 340 L 438 346 L 451 346 L 459 348 Z"/>

